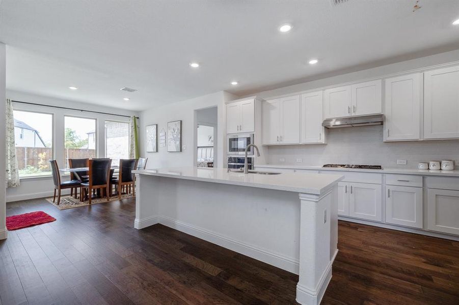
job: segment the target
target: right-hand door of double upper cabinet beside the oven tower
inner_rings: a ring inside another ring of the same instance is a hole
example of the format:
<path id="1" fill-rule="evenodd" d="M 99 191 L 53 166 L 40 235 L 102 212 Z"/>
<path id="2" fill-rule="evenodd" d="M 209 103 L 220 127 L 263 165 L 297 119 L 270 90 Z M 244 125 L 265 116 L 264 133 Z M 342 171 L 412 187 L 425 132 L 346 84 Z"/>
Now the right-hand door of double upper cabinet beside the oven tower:
<path id="1" fill-rule="evenodd" d="M 300 96 L 279 99 L 281 144 L 300 143 Z"/>

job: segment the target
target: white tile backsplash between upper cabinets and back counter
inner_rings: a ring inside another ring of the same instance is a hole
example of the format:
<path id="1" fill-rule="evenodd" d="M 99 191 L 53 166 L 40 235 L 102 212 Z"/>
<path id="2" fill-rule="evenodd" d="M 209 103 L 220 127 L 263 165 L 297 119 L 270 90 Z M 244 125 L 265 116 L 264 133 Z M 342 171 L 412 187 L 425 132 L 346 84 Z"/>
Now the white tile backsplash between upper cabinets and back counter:
<path id="1" fill-rule="evenodd" d="M 459 165 L 459 140 L 383 142 L 383 126 L 327 130 L 327 144 L 267 146 L 267 164 L 371 164 L 388 168 L 415 168 L 419 162 L 454 160 Z M 296 159 L 303 159 L 302 163 Z M 397 159 L 407 165 L 397 165 Z"/>

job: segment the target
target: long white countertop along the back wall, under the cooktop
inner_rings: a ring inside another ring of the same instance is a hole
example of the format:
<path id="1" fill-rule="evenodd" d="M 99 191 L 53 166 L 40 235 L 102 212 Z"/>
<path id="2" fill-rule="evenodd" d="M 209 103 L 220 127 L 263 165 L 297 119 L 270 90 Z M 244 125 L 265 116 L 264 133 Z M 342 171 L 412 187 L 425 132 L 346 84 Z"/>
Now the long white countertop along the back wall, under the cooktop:
<path id="1" fill-rule="evenodd" d="M 403 168 L 383 168 L 383 169 L 358 169 L 358 168 L 336 168 L 321 166 L 295 166 L 295 165 L 278 165 L 264 164 L 255 165 L 258 168 L 286 168 L 286 169 L 309 169 L 320 171 L 352 171 L 361 173 L 380 173 L 380 174 L 404 174 L 404 175 L 421 175 L 421 176 L 444 176 L 459 177 L 459 170 L 429 170 L 429 169 L 403 169 Z"/>

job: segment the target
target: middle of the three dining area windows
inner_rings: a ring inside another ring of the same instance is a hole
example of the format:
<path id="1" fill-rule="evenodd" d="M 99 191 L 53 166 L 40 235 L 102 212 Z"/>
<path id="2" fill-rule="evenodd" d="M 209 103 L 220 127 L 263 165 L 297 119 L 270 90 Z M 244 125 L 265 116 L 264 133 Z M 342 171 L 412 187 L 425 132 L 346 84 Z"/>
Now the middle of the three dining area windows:
<path id="1" fill-rule="evenodd" d="M 94 118 L 64 116 L 64 164 L 69 159 L 96 158 L 96 126 Z"/>

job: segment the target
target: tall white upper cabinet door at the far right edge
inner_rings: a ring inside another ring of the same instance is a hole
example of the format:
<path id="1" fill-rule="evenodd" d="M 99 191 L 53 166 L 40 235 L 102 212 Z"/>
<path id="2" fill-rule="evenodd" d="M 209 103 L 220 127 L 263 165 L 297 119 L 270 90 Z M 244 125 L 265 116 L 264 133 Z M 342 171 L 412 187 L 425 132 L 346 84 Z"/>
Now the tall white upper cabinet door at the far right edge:
<path id="1" fill-rule="evenodd" d="M 459 66 L 424 72 L 424 138 L 459 138 Z"/>

